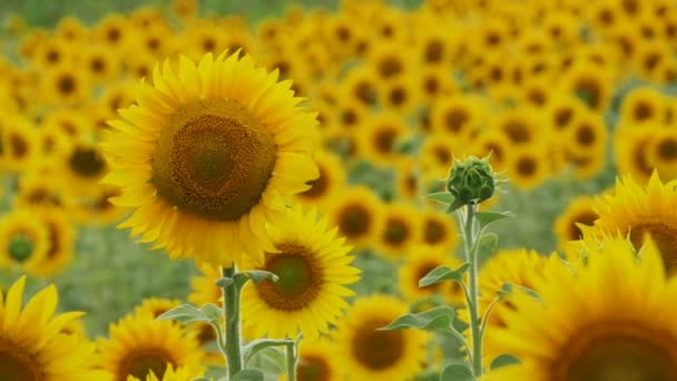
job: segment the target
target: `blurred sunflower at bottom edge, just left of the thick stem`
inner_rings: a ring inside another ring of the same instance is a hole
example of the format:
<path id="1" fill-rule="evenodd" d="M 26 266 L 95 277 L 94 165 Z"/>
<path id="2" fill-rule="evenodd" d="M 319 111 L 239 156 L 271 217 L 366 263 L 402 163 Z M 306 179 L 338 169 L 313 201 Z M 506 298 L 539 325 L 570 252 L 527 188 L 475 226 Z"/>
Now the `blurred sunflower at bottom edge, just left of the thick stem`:
<path id="1" fill-rule="evenodd" d="M 127 315 L 99 341 L 101 381 L 144 380 L 153 372 L 164 377 L 168 365 L 200 368 L 203 351 L 193 335 L 171 321 L 154 321 L 147 314 Z"/>

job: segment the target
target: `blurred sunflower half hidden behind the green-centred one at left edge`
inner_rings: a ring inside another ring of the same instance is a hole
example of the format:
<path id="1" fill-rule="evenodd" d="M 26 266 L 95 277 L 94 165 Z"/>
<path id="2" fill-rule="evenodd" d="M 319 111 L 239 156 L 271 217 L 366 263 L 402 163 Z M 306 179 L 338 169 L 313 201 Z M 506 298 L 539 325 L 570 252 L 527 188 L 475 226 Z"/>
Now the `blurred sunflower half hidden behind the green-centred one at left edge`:
<path id="1" fill-rule="evenodd" d="M 67 268 L 73 260 L 76 231 L 66 211 L 56 207 L 31 209 L 33 218 L 47 227 L 47 253 L 32 272 L 39 276 L 52 276 Z"/>

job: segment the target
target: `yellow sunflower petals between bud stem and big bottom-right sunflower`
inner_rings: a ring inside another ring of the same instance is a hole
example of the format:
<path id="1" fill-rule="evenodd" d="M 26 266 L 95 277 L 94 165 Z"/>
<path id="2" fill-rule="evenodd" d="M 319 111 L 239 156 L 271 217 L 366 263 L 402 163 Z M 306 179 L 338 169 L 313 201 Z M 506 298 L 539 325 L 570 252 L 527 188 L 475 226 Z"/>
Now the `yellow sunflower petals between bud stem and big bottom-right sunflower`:
<path id="1" fill-rule="evenodd" d="M 553 257 L 552 261 L 559 258 Z M 502 250 L 496 253 L 480 270 L 480 310 L 487 310 L 498 297 L 498 291 L 504 283 L 533 289 L 537 280 L 543 276 L 547 262 L 546 256 L 534 251 Z M 510 311 L 514 311 L 511 296 L 498 303 L 489 315 L 483 336 L 484 358 L 488 363 L 502 353 L 501 344 L 497 342 L 493 333 L 506 326 L 506 314 Z"/>

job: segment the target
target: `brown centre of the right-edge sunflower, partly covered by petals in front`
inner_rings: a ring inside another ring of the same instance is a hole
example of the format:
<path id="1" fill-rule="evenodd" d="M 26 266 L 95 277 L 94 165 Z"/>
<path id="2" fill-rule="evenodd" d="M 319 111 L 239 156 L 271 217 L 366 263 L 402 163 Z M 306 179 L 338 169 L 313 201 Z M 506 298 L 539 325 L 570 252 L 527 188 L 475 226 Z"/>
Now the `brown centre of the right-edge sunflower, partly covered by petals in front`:
<path id="1" fill-rule="evenodd" d="M 637 224 L 630 231 L 630 241 L 635 247 L 641 246 L 646 233 L 656 243 L 668 274 L 677 272 L 677 227 L 661 222 Z"/>

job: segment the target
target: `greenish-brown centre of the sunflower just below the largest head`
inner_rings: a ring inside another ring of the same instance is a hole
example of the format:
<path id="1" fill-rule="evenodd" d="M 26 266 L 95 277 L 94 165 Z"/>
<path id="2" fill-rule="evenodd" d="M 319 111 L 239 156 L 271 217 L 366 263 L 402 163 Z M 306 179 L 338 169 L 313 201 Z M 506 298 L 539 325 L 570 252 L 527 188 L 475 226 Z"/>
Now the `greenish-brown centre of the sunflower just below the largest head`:
<path id="1" fill-rule="evenodd" d="M 322 268 L 307 247 L 278 245 L 279 253 L 267 254 L 264 270 L 279 279 L 263 281 L 258 295 L 275 310 L 297 311 L 315 300 L 322 286 Z"/>

